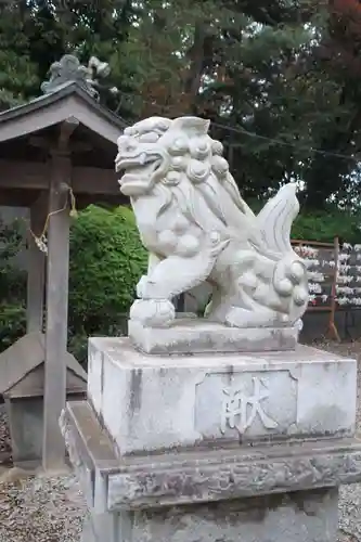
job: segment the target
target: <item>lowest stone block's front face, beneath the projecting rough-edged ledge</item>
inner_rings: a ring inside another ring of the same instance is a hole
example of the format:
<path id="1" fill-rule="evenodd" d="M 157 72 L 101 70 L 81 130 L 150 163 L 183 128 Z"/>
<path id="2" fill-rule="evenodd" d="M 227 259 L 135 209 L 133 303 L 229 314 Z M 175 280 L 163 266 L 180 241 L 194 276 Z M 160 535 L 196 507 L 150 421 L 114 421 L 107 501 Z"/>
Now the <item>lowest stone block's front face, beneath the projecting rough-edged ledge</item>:
<path id="1" fill-rule="evenodd" d="M 121 542 L 335 542 L 337 490 L 134 512 Z"/>

